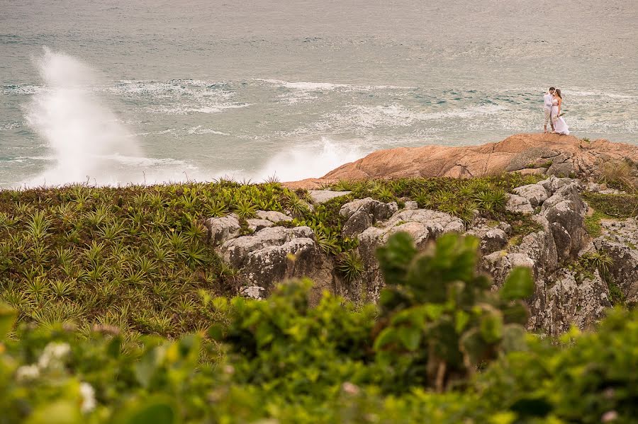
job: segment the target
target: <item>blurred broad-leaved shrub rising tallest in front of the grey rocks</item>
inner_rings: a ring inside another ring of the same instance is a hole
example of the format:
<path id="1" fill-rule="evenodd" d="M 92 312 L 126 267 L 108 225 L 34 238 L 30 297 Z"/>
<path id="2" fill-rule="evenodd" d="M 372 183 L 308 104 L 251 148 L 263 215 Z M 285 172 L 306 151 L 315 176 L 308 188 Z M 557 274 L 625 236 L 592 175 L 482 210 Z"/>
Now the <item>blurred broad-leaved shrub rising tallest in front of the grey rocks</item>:
<path id="1" fill-rule="evenodd" d="M 498 293 L 476 274 L 478 240 L 440 237 L 418 253 L 396 234 L 377 256 L 386 280 L 374 340 L 386 386 L 443 391 L 465 382 L 502 350 L 520 347 L 534 290 L 527 268 L 515 268 Z"/>

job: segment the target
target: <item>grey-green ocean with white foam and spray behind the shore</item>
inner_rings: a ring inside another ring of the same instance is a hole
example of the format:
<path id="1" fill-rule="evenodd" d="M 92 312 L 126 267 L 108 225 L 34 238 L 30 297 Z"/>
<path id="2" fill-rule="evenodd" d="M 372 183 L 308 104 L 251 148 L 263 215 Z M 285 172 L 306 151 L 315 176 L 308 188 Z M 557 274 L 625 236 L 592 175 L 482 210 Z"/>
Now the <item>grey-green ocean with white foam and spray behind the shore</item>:
<path id="1" fill-rule="evenodd" d="M 319 177 L 542 127 L 638 144 L 635 0 L 0 0 L 0 188 Z"/>

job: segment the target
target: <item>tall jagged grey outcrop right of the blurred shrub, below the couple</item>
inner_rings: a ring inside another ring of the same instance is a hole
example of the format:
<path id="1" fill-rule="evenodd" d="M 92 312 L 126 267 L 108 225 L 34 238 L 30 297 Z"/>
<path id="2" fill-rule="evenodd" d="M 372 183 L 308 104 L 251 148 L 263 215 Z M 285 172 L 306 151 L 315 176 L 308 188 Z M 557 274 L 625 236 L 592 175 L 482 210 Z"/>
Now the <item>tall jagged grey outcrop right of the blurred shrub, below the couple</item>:
<path id="1" fill-rule="evenodd" d="M 576 260 L 586 245 L 583 219 L 586 205 L 580 197 L 578 181 L 554 176 L 515 191 L 537 200 L 541 212 L 532 216 L 540 231 L 527 234 L 517 246 L 484 256 L 483 270 L 492 275 L 495 287 L 500 287 L 516 266 L 532 269 L 535 294 L 530 299 L 531 318 L 528 327 L 556 335 L 571 324 L 586 328 L 603 316 L 610 306 L 609 289 L 598 272 L 593 277 L 574 275 L 562 270 L 561 263 Z M 544 192 L 542 190 L 544 190 Z M 544 193 L 549 195 L 543 200 Z M 578 281 L 576 278 L 578 277 Z"/>

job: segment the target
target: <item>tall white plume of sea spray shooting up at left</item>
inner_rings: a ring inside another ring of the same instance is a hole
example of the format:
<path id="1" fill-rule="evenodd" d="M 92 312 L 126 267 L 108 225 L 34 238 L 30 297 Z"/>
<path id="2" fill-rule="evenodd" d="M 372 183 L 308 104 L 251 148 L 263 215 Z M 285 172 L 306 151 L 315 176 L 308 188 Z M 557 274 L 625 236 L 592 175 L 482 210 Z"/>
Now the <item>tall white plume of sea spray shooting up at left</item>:
<path id="1" fill-rule="evenodd" d="M 26 121 L 46 142 L 55 164 L 29 183 L 113 184 L 134 178 L 118 157 L 142 156 L 138 141 L 91 90 L 98 74 L 48 49 L 35 64 L 44 89 L 33 95 Z"/>

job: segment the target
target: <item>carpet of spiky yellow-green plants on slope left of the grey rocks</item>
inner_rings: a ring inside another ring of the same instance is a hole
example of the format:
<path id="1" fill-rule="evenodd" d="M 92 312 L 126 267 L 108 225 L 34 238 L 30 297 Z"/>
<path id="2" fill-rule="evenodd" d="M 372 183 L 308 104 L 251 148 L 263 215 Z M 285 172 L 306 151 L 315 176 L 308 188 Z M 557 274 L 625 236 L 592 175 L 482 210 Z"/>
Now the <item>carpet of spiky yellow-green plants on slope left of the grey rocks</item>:
<path id="1" fill-rule="evenodd" d="M 276 183 L 0 192 L 0 298 L 23 321 L 75 321 L 177 336 L 214 314 L 203 294 L 234 294 L 236 271 L 206 243 L 204 220 L 283 211 Z"/>

